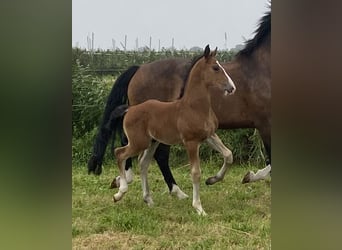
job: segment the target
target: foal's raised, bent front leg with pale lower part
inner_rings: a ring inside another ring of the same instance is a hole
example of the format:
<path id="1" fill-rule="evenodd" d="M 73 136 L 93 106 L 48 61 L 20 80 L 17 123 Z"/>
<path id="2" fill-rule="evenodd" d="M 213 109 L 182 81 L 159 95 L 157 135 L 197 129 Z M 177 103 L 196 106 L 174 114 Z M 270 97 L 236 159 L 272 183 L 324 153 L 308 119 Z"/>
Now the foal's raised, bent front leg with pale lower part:
<path id="1" fill-rule="evenodd" d="M 210 136 L 207 139 L 207 142 L 209 146 L 211 146 L 216 151 L 220 152 L 223 156 L 223 165 L 220 171 L 215 176 L 209 177 L 205 182 L 207 185 L 212 185 L 218 181 L 223 180 L 227 170 L 229 169 L 229 166 L 231 166 L 231 164 L 233 163 L 233 154 L 232 154 L 232 151 L 230 151 L 223 144 L 223 142 L 221 141 L 220 137 L 218 137 L 217 134 Z"/>

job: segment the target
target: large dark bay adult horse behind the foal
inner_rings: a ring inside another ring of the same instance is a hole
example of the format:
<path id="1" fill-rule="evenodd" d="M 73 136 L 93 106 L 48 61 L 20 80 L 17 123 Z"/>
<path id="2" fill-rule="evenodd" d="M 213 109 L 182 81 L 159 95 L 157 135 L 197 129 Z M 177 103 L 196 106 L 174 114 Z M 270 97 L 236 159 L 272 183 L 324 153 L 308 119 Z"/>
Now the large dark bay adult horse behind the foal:
<path id="1" fill-rule="evenodd" d="M 246 42 L 243 50 L 231 62 L 222 64 L 237 86 L 229 98 L 212 88 L 212 108 L 218 118 L 220 129 L 257 128 L 263 140 L 268 159 L 266 167 L 256 174 L 252 171 L 243 178 L 243 183 L 265 178 L 271 171 L 271 12 L 260 20 L 255 36 Z M 102 124 L 97 134 L 93 155 L 88 161 L 88 172 L 101 174 L 102 160 L 108 141 L 114 131 L 120 131 L 120 123 L 105 127 L 115 107 L 126 103 L 142 103 L 148 99 L 173 101 L 184 90 L 184 79 L 190 63 L 185 59 L 166 59 L 132 66 L 116 80 L 109 95 Z M 122 130 L 121 130 L 122 131 Z M 160 144 L 154 155 L 170 191 L 176 187 L 168 165 L 169 146 Z M 131 164 L 127 160 L 127 178 L 131 178 Z M 206 183 L 222 180 L 225 169 L 221 169 Z M 118 186 L 118 179 L 112 186 Z M 177 192 L 176 192 L 177 193 Z M 184 197 L 183 195 L 179 196 Z"/>

